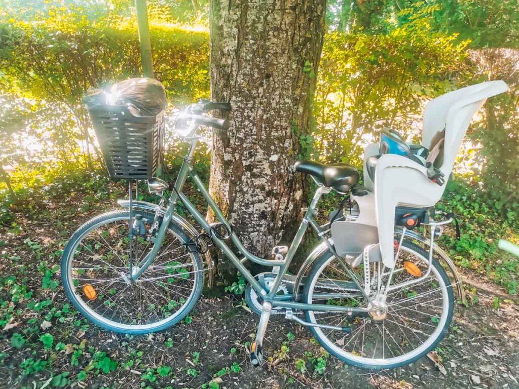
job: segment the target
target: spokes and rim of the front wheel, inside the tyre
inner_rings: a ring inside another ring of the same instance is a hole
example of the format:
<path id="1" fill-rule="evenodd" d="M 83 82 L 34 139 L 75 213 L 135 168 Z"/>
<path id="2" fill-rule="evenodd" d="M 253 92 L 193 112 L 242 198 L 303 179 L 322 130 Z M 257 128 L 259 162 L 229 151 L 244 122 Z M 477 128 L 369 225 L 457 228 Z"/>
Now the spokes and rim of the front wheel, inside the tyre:
<path id="1" fill-rule="evenodd" d="M 153 244 L 142 236 L 130 239 L 127 220 L 123 216 L 93 226 L 78 240 L 69 260 L 70 284 L 76 301 L 106 323 L 158 325 L 183 310 L 204 269 L 194 254 L 181 252 L 184 241 L 168 231 L 151 266 L 132 282 L 125 259 L 130 246 L 134 263 L 139 263 Z M 150 225 L 152 219 L 144 223 Z"/>

